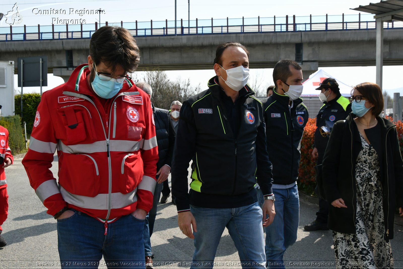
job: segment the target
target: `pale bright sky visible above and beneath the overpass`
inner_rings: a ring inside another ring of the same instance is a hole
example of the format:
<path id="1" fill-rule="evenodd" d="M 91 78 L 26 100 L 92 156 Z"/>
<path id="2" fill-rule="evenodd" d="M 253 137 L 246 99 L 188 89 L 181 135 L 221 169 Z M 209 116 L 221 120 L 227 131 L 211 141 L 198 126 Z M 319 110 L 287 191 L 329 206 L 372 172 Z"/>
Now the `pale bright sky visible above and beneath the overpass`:
<path id="1" fill-rule="evenodd" d="M 0 4 L 0 12 L 7 14 L 17 0 L 2 0 Z M 326 13 L 331 15 L 358 15 L 355 10 L 350 8 L 358 7 L 359 5 L 367 5 L 369 0 L 232 0 L 232 1 L 190 1 L 190 20 L 201 19 L 225 19 L 229 18 L 256 18 L 262 17 L 285 17 L 292 16 L 324 16 Z M 378 1 L 375 1 L 378 2 Z M 105 21 L 112 22 L 134 22 L 134 21 L 165 21 L 165 19 L 174 20 L 175 18 L 175 1 L 174 0 L 150 0 L 150 1 L 129 1 L 129 0 L 96 0 L 96 1 L 56 1 L 56 0 L 20 0 L 17 1 L 19 13 L 23 16 L 21 25 L 36 26 L 51 25 L 52 18 L 59 19 L 85 19 L 86 23 L 95 23 L 98 21 L 98 15 L 72 15 L 80 12 L 80 10 L 96 10 L 101 8 L 104 14 L 101 14 L 102 24 Z M 36 14 L 52 12 L 55 10 L 65 10 L 66 14 Z M 83 12 L 81 11 L 81 12 Z M 188 1 L 177 0 L 177 19 L 188 19 Z M 358 16 L 357 16 L 358 19 Z M 2 27 L 9 27 L 4 22 L 0 21 L 0 30 Z M 375 57 L 375 56 L 374 56 Z M 86 59 L 83 59 L 83 63 Z M 280 60 L 280 59 L 279 59 Z M 337 77 L 348 85 L 356 85 L 364 81 L 375 82 L 375 67 L 326 67 L 323 68 L 330 75 Z M 214 76 L 214 71 L 199 70 L 199 71 L 167 71 L 172 79 L 181 77 L 182 79 L 190 78 L 193 85 L 201 85 L 202 89 L 206 88 L 207 81 Z M 399 67 L 384 67 L 383 70 L 383 88 L 397 89 L 403 87 L 401 83 L 401 74 L 403 66 Z M 139 74 L 141 77 L 141 75 Z M 252 69 L 251 77 L 262 77 L 262 85 L 272 83 L 272 69 Z M 49 87 L 44 87 L 44 90 L 50 89 L 60 83 L 62 79 L 52 79 L 48 76 Z M 17 88 L 17 87 L 15 87 Z M 17 89 L 19 90 L 19 89 Z M 37 88 L 25 88 L 24 92 L 37 91 Z M 403 94 L 403 90 L 401 90 Z"/>

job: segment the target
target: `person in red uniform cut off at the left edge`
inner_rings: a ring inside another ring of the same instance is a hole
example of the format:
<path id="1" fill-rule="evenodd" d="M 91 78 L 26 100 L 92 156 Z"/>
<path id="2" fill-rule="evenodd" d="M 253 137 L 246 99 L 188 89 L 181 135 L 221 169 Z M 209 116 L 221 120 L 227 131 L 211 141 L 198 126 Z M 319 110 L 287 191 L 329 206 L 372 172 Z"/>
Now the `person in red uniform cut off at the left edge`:
<path id="1" fill-rule="evenodd" d="M 1 118 L 1 105 L 0 105 L 0 118 Z M 3 231 L 1 225 L 7 219 L 8 215 L 8 194 L 7 194 L 7 181 L 4 168 L 12 165 L 14 158 L 11 155 L 10 147 L 8 146 L 8 130 L 0 125 L 0 247 L 7 244 L 4 237 L 1 236 Z"/>

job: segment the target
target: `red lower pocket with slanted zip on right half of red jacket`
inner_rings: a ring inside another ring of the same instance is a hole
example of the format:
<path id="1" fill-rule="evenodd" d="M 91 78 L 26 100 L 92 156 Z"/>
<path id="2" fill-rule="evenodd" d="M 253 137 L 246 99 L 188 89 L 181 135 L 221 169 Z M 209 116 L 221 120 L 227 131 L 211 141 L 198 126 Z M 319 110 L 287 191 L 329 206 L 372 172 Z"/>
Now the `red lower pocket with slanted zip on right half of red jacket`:
<path id="1" fill-rule="evenodd" d="M 143 160 L 140 152 L 135 154 L 129 153 L 123 157 L 120 167 L 119 190 L 123 194 L 127 194 L 139 185 L 143 178 Z"/>

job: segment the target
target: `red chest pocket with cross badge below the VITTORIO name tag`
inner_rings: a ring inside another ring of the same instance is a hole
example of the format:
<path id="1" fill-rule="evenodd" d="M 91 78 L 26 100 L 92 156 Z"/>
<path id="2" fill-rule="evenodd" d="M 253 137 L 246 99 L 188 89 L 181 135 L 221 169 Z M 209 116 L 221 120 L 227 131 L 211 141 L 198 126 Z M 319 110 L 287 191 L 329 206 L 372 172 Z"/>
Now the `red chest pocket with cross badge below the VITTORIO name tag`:
<path id="1" fill-rule="evenodd" d="M 89 110 L 83 105 L 64 106 L 57 110 L 60 139 L 66 145 L 89 144 L 96 141 Z"/>

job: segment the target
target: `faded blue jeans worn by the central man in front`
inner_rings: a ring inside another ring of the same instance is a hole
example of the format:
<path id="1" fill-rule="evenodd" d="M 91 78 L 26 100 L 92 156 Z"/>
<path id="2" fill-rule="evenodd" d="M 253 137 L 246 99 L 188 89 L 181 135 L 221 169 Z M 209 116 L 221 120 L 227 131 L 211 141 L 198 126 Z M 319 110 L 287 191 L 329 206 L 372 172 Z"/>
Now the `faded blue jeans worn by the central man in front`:
<path id="1" fill-rule="evenodd" d="M 212 209 L 190 206 L 197 232 L 190 268 L 212 268 L 225 227 L 238 250 L 243 268 L 265 268 L 262 209 L 256 202 L 248 206 Z"/>

